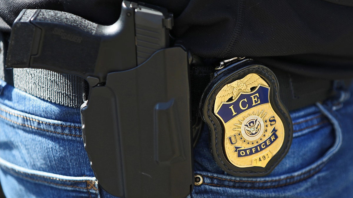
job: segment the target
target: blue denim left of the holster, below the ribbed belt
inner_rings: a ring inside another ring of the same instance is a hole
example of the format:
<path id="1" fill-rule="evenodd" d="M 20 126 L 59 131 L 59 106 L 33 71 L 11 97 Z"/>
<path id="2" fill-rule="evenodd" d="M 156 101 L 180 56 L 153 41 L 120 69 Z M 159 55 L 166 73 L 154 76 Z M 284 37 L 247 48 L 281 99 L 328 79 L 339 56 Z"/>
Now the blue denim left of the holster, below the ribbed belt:
<path id="1" fill-rule="evenodd" d="M 79 120 L 78 109 L 4 87 L 0 180 L 7 197 L 98 196 Z"/>

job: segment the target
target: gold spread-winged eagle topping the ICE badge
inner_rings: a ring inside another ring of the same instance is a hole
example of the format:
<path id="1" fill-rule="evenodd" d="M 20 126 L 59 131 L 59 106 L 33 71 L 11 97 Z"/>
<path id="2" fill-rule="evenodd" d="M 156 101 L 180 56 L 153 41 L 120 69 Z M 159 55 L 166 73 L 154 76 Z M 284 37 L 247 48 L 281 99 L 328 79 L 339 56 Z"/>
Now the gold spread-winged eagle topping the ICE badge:
<path id="1" fill-rule="evenodd" d="M 257 87 L 259 84 L 268 86 L 268 84 L 256 74 L 248 74 L 240 80 L 227 84 L 216 96 L 215 110 L 217 110 L 222 103 L 227 102 L 231 98 L 234 100 L 241 92 L 250 92 L 251 87 Z"/>

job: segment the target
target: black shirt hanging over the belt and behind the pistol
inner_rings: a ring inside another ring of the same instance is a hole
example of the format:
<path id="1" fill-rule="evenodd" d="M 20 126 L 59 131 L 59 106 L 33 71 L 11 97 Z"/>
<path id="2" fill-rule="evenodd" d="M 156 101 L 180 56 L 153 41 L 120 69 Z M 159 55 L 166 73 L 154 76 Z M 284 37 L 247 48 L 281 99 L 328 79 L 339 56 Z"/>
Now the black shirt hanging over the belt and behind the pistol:
<path id="1" fill-rule="evenodd" d="M 331 2 L 328 2 L 331 1 Z M 291 73 L 326 79 L 353 76 L 352 1 L 146 0 L 174 14 L 172 35 L 209 60 L 252 57 Z M 336 3 L 337 2 L 337 3 Z M 70 12 L 109 25 L 116 0 L 1 0 L 0 31 L 10 32 L 22 9 Z M 211 58 L 211 59 L 210 59 Z"/>

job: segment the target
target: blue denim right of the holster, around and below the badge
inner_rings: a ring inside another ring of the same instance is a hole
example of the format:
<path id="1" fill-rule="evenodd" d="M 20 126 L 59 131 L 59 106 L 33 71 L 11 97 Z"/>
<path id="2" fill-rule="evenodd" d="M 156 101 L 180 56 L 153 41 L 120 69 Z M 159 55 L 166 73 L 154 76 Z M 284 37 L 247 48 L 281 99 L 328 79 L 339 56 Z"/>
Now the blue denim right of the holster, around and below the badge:
<path id="1" fill-rule="evenodd" d="M 233 177 L 213 161 L 208 128 L 195 148 L 196 197 L 353 197 L 353 98 L 351 92 L 291 112 L 293 142 L 266 177 Z M 349 99 L 349 100 L 348 100 Z"/>

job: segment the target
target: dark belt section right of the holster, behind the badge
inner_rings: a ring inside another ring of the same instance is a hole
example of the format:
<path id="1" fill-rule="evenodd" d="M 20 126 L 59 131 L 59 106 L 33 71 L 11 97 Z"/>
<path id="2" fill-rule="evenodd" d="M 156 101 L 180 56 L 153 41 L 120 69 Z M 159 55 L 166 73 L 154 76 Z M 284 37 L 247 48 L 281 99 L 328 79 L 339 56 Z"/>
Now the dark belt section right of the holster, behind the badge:
<path id="1" fill-rule="evenodd" d="M 254 58 L 256 60 L 256 58 Z M 336 81 L 342 81 L 342 85 L 349 85 L 351 79 L 330 80 L 312 78 L 298 74 L 284 72 L 268 66 L 279 81 L 279 92 L 283 104 L 289 111 L 299 109 L 318 101 L 324 101 L 334 94 Z M 193 116 L 197 116 L 198 103 L 205 87 L 211 81 L 215 66 L 191 67 L 191 96 Z"/>

